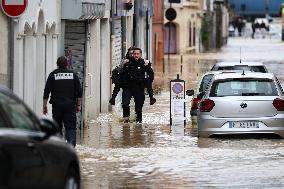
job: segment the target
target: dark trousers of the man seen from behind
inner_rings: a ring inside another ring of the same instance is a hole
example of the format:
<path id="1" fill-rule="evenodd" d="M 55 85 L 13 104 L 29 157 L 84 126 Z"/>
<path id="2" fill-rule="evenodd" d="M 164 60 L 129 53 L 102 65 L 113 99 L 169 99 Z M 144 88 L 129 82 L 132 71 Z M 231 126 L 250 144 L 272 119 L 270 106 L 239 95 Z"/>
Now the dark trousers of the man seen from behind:
<path id="1" fill-rule="evenodd" d="M 73 99 L 54 99 L 52 117 L 58 123 L 60 134 L 64 125 L 66 140 L 76 146 L 76 106 Z"/>

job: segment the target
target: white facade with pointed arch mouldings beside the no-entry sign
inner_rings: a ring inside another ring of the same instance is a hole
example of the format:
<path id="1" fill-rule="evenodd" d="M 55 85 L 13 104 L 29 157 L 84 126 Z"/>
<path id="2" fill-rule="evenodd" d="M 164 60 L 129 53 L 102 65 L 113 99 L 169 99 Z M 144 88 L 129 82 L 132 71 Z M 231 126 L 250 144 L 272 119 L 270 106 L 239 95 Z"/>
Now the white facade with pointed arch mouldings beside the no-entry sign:
<path id="1" fill-rule="evenodd" d="M 45 81 L 56 68 L 60 18 L 60 0 L 30 0 L 25 13 L 14 20 L 13 91 L 38 115 Z"/>

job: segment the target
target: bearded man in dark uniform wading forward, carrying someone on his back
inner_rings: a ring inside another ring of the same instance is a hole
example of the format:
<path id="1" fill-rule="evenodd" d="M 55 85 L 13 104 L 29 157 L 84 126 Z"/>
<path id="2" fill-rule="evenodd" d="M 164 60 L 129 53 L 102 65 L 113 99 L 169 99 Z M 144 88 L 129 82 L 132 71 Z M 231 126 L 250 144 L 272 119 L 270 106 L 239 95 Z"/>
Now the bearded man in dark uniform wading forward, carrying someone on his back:
<path id="1" fill-rule="evenodd" d="M 129 121 L 130 116 L 130 100 L 134 97 L 136 122 L 142 123 L 142 108 L 145 100 L 144 87 L 146 66 L 141 58 L 142 50 L 134 48 L 133 58 L 123 67 L 123 79 L 125 86 L 122 92 L 122 108 L 124 122 Z"/>

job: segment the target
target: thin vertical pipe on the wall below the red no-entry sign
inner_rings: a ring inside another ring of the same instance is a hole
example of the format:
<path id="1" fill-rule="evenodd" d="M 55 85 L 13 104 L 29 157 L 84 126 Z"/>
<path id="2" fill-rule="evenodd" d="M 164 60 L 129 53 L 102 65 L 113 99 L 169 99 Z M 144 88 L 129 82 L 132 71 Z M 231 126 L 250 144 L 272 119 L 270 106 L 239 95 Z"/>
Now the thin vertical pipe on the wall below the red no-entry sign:
<path id="1" fill-rule="evenodd" d="M 14 34 L 15 34 L 15 28 L 14 28 L 14 20 L 13 18 L 9 18 L 9 34 L 8 34 L 8 40 L 9 40 L 9 48 L 8 48 L 8 60 L 10 62 L 10 65 L 8 64 L 8 87 L 12 90 L 13 89 L 13 81 L 14 81 Z"/>

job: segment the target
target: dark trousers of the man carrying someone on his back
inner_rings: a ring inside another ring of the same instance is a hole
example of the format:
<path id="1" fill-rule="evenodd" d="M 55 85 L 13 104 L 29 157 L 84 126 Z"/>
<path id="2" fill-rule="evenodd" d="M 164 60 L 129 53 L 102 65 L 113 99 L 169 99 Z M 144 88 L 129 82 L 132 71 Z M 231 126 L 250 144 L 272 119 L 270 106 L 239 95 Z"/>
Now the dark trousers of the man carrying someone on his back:
<path id="1" fill-rule="evenodd" d="M 136 121 L 142 122 L 142 108 L 145 100 L 144 86 L 137 85 L 123 88 L 122 92 L 122 108 L 123 117 L 130 116 L 130 100 L 134 97 Z"/>

